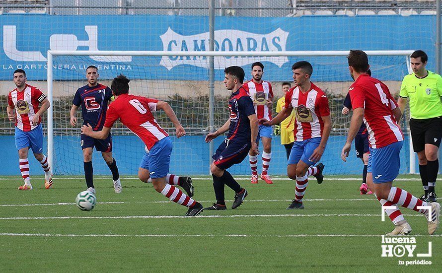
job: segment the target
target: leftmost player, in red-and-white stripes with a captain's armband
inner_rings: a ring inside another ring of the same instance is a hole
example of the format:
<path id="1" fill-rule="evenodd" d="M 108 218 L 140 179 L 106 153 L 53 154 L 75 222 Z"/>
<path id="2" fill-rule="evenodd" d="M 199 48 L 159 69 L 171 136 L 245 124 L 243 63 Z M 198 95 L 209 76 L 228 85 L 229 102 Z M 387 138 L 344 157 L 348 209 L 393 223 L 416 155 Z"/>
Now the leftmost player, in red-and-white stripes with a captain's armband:
<path id="1" fill-rule="evenodd" d="M 41 115 L 51 105 L 40 89 L 26 83 L 26 72 L 14 71 L 16 88 L 7 96 L 7 115 L 15 122 L 15 146 L 18 150 L 19 166 L 24 185 L 19 190 L 32 190 L 29 178 L 29 147 L 45 172 L 45 188 L 52 186 L 52 171 L 48 159 L 43 154 L 43 129 Z M 41 107 L 40 107 L 41 104 Z"/>

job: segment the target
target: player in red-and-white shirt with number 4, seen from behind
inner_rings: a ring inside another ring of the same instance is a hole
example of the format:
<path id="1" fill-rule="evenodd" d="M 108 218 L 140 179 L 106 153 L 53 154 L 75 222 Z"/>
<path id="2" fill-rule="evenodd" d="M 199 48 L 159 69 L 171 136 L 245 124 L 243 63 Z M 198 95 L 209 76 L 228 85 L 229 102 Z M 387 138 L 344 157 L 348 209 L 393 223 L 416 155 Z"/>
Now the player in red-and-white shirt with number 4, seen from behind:
<path id="1" fill-rule="evenodd" d="M 386 212 L 395 228 L 387 235 L 411 232 L 411 226 L 404 219 L 397 205 L 423 213 L 428 219 L 428 233 L 433 234 L 439 227 L 441 205 L 423 202 L 405 190 L 392 186 L 393 180 L 399 174 L 399 152 L 404 142 L 404 135 L 397 124 L 401 117 L 401 110 L 397 107 L 388 87 L 367 74 L 370 66 L 365 52 L 351 50 L 348 64 L 350 74 L 355 80 L 349 88 L 353 116 L 347 142 L 342 148 L 342 160 L 346 161 L 352 141 L 364 121 L 367 125 L 370 144 L 368 188 L 375 192 L 382 206 L 393 206 L 393 208 L 386 209 Z M 429 209 L 424 206 L 431 206 L 432 213 L 429 213 Z"/>

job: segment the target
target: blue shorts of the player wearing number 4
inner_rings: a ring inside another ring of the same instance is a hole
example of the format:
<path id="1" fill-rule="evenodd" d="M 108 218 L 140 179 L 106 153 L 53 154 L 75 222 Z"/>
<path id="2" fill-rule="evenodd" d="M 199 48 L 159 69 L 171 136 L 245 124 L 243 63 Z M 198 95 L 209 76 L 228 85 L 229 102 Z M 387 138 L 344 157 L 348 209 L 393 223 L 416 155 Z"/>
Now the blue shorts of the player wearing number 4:
<path id="1" fill-rule="evenodd" d="M 399 153 L 404 141 L 391 143 L 382 148 L 370 148 L 367 172 L 373 176 L 373 183 L 393 181 L 399 174 L 401 161 Z"/>

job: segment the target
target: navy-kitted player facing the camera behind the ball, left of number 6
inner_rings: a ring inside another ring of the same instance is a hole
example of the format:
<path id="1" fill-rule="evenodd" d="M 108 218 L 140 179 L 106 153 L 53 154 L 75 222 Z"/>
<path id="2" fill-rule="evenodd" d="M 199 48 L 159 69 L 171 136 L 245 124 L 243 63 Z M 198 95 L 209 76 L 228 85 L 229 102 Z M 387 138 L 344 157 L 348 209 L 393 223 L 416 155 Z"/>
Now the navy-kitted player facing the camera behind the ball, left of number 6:
<path id="1" fill-rule="evenodd" d="M 77 123 L 76 111 L 81 106 L 83 125 L 90 124 L 93 131 L 101 131 L 106 120 L 107 104 L 113 100 L 112 90 L 98 83 L 98 68 L 89 66 L 86 68 L 87 85 L 78 88 L 75 92 L 71 108 L 71 125 Z M 120 175 L 117 162 L 112 157 L 112 136 L 106 139 L 95 139 L 81 135 L 81 149 L 83 150 L 84 176 L 86 178 L 87 191 L 95 194 L 93 185 L 92 151 L 93 147 L 101 152 L 107 166 L 112 172 L 115 193 L 121 193 Z"/>

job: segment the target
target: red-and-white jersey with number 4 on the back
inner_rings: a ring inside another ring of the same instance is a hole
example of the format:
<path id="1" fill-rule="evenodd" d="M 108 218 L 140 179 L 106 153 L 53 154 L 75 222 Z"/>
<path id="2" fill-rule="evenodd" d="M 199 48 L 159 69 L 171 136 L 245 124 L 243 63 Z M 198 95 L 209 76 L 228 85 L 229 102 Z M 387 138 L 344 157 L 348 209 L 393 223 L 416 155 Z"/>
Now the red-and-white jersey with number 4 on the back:
<path id="1" fill-rule="evenodd" d="M 367 125 L 368 142 L 372 148 L 381 148 L 404 140 L 392 111 L 397 103 L 383 82 L 363 74 L 350 86 L 349 93 L 353 109 L 365 109 L 364 123 Z"/>

